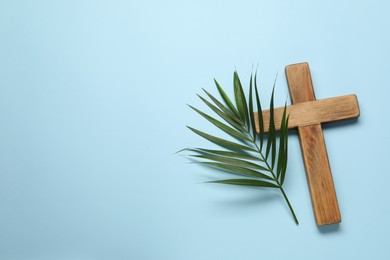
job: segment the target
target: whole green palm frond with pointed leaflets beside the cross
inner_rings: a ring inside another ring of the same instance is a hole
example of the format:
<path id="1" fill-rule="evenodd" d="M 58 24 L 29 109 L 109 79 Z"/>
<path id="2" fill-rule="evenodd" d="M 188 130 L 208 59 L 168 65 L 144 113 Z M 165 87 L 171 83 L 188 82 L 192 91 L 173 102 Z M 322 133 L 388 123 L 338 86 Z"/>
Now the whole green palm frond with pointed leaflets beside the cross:
<path id="1" fill-rule="evenodd" d="M 270 100 L 270 120 L 266 145 L 264 145 L 266 134 L 264 131 L 262 106 L 257 87 L 257 72 L 254 76 L 254 84 L 253 76 L 251 75 L 250 77 L 248 101 L 245 97 L 240 78 L 236 71 L 233 74 L 235 104 L 233 104 L 231 99 L 226 95 L 225 91 L 216 80 L 214 80 L 214 83 L 217 86 L 218 92 L 223 100 L 222 102 L 225 103 L 225 105 L 206 90 L 204 90 L 206 95 L 215 105 L 200 95 L 198 96 L 227 124 L 193 106 L 190 107 L 218 129 L 237 139 L 242 144 L 219 138 L 188 126 L 188 128 L 195 134 L 227 150 L 204 148 L 188 148 L 185 150 L 194 153 L 190 156 L 194 158 L 197 163 L 211 166 L 234 175 L 244 175 L 251 178 L 215 180 L 210 183 L 279 189 L 286 200 L 287 206 L 289 207 L 295 222 L 298 224 L 294 210 L 292 209 L 287 195 L 282 187 L 287 169 L 289 116 L 286 115 L 287 109 L 285 105 L 281 121 L 279 145 L 277 146 L 278 140 L 275 129 L 274 111 L 276 79 L 272 88 Z M 255 95 L 255 97 L 253 97 L 253 95 Z M 258 111 L 257 120 L 259 122 L 259 133 L 256 133 L 253 99 L 256 100 L 256 108 Z M 265 151 L 263 149 L 264 147 Z"/>

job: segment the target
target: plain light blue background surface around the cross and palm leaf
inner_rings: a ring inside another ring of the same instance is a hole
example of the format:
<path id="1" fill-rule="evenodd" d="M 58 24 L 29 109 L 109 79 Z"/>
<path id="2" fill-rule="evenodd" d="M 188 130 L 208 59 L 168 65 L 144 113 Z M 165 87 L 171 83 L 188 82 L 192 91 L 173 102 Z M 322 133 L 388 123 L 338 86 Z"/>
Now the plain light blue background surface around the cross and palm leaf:
<path id="1" fill-rule="evenodd" d="M 389 259 L 386 1 L 0 2 L 0 259 Z M 200 184 L 173 153 L 217 133 L 186 107 L 259 63 L 263 102 L 308 61 L 343 222 L 314 222 L 296 132 L 286 192 Z"/>

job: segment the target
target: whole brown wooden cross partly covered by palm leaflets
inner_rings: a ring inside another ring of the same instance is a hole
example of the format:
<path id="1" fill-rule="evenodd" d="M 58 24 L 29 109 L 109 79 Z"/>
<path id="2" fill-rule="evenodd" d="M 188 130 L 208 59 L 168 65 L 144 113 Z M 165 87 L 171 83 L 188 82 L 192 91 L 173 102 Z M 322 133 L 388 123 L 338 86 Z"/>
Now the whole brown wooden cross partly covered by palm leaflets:
<path id="1" fill-rule="evenodd" d="M 286 77 L 293 104 L 287 107 L 287 114 L 290 113 L 288 127 L 298 128 L 316 223 L 318 226 L 339 223 L 340 210 L 321 124 L 359 117 L 357 97 L 346 95 L 316 100 L 306 62 L 286 66 Z M 283 109 L 275 109 L 276 130 L 280 129 Z M 269 110 L 262 112 L 264 128 L 268 131 Z M 258 130 L 258 122 L 256 127 Z"/>

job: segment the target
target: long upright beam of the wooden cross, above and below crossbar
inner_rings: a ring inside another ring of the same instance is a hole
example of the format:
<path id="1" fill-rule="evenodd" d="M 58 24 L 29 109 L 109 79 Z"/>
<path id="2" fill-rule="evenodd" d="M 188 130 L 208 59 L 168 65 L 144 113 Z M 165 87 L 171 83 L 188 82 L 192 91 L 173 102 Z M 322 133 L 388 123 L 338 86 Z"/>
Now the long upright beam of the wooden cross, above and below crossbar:
<path id="1" fill-rule="evenodd" d="M 293 104 L 315 101 L 309 65 L 286 66 L 287 83 Z M 318 226 L 341 222 L 336 191 L 321 124 L 298 126 L 302 154 Z"/>

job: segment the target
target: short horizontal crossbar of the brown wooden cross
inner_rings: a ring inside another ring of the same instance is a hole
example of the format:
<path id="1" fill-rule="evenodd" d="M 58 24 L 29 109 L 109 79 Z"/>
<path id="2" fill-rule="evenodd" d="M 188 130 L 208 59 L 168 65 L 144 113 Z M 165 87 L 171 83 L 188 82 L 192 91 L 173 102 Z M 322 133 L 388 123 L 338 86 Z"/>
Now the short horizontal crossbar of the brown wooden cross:
<path id="1" fill-rule="evenodd" d="M 275 128 L 280 130 L 284 107 L 275 108 Z M 359 117 L 359 105 L 356 95 L 346 95 L 316 101 L 296 103 L 287 106 L 290 114 L 288 128 L 313 124 L 335 122 Z M 269 129 L 269 110 L 263 110 L 264 131 Z M 256 131 L 259 132 L 259 121 L 255 112 Z"/>

